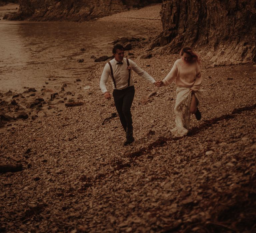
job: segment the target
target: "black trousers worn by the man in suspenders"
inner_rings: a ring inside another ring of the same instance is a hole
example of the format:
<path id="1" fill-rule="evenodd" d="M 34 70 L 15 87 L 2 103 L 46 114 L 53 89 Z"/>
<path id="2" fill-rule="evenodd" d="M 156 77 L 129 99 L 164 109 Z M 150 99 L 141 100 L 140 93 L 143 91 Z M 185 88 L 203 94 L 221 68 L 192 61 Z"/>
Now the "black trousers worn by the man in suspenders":
<path id="1" fill-rule="evenodd" d="M 113 98 L 119 115 L 121 124 L 126 131 L 126 127 L 132 127 L 131 106 L 134 98 L 134 86 L 130 86 L 123 90 L 114 89 Z"/>

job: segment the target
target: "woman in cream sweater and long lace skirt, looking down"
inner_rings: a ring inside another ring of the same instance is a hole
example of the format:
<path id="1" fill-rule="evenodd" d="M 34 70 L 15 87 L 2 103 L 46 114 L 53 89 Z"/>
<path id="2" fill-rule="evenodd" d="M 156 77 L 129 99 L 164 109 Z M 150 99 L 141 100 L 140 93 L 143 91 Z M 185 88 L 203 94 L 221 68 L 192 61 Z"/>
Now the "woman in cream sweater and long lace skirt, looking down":
<path id="1" fill-rule="evenodd" d="M 176 127 L 171 130 L 178 137 L 187 135 L 190 114 L 195 114 L 197 120 L 201 119 L 198 106 L 202 95 L 198 55 L 190 47 L 182 48 L 180 55 L 181 58 L 174 63 L 165 79 L 158 81 L 160 86 L 168 86 L 175 80 L 175 84 L 178 86 L 174 107 Z"/>

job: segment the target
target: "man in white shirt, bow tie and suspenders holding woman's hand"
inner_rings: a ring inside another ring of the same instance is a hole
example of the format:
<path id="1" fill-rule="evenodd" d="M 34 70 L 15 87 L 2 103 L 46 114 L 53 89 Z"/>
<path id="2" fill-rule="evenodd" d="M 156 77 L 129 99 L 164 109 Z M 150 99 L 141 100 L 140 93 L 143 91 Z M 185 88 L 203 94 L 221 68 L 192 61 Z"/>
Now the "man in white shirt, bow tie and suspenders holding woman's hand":
<path id="1" fill-rule="evenodd" d="M 106 88 L 108 77 L 111 76 L 113 86 L 113 97 L 118 112 L 121 124 L 126 132 L 126 141 L 124 145 L 128 145 L 134 141 L 131 106 L 134 98 L 134 83 L 131 77 L 131 70 L 136 72 L 139 76 L 154 84 L 160 86 L 147 72 L 143 71 L 132 60 L 124 59 L 124 47 L 116 44 L 113 47 L 114 59 L 108 62 L 103 70 L 100 79 L 100 89 L 104 97 L 108 100 L 111 95 Z"/>

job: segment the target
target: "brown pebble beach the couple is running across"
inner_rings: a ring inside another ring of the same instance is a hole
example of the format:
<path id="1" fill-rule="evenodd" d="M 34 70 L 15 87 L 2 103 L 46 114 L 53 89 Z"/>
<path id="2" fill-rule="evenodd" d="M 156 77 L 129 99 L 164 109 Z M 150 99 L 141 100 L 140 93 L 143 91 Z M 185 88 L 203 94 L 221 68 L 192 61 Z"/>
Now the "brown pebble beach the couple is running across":
<path id="1" fill-rule="evenodd" d="M 139 27 L 143 9 L 99 20 Z M 157 36 L 159 20 L 148 18 L 141 30 Z M 138 60 L 148 45 L 130 58 L 162 80 L 179 56 Z M 135 142 L 124 147 L 118 117 L 102 125 L 116 112 L 99 89 L 104 62 L 82 106 L 1 129 L 0 163 L 31 166 L 1 174 L 0 232 L 254 232 L 256 65 L 212 67 L 201 56 L 202 119 L 191 116 L 186 137 L 169 131 L 175 85 L 157 88 L 133 73 Z"/>

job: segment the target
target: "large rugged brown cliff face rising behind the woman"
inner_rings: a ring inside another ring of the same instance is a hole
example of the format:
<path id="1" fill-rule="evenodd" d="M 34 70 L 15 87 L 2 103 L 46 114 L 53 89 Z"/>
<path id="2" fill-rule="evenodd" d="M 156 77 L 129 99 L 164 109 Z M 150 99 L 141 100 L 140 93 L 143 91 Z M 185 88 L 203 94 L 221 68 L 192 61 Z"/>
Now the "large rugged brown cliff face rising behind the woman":
<path id="1" fill-rule="evenodd" d="M 192 46 L 216 64 L 256 61 L 255 0 L 164 0 L 161 17 L 152 48 Z"/>

